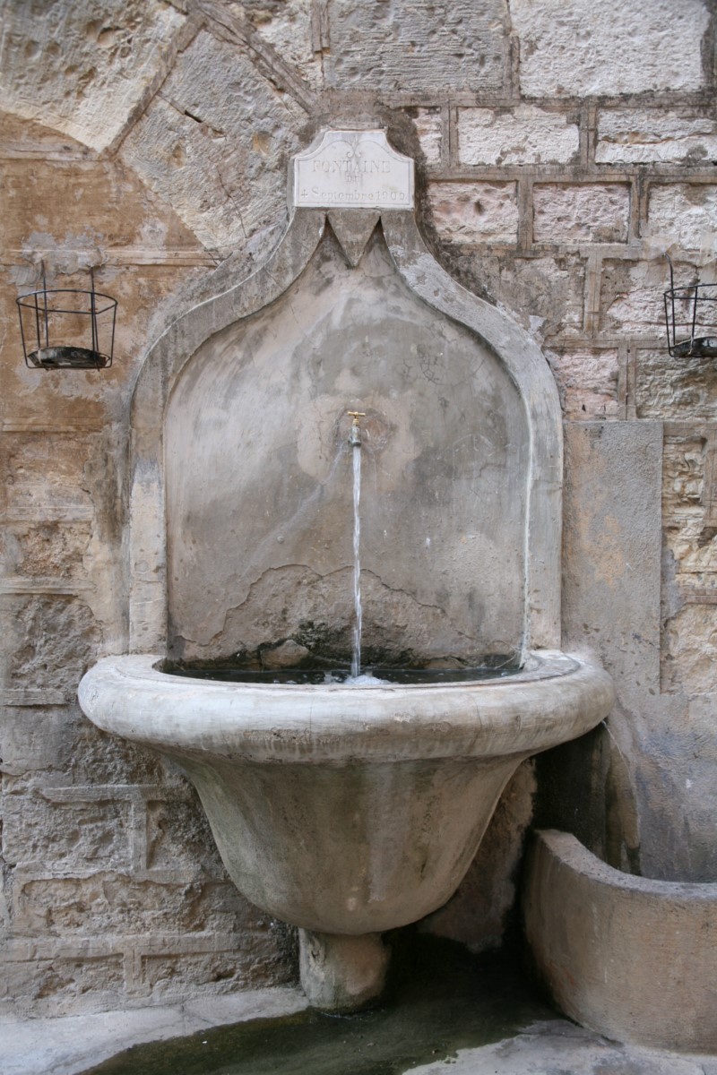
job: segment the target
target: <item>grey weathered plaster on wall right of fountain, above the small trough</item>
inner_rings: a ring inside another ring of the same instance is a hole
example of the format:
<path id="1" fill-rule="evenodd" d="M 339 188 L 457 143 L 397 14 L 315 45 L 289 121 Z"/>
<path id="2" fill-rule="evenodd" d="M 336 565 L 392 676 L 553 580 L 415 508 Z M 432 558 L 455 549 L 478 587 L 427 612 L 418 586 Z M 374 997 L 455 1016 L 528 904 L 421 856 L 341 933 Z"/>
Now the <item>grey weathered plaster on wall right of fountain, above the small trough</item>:
<path id="1" fill-rule="evenodd" d="M 674 583 L 663 589 L 660 582 L 661 424 L 575 425 L 568 427 L 567 449 L 563 640 L 605 655 L 618 694 L 607 734 L 627 785 L 603 790 L 615 796 L 608 823 L 622 832 L 612 864 L 639 863 L 648 877 L 708 880 L 716 741 L 706 718 L 714 683 L 703 655 L 714 605 L 690 605 L 662 626 L 670 617 L 664 601 L 677 594 Z M 614 846 L 615 834 L 592 840 L 604 855 L 601 841 Z"/>

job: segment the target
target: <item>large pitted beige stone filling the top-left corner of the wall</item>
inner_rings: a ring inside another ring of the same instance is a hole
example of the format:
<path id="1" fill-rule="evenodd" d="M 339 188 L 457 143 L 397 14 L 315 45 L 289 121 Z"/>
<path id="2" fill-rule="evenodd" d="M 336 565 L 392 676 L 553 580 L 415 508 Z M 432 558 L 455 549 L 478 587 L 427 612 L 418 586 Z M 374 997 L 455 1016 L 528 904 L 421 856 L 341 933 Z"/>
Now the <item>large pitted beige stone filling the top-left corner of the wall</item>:
<path id="1" fill-rule="evenodd" d="M 3 108 L 94 149 L 110 145 L 185 22 L 161 0 L 5 5 Z"/>

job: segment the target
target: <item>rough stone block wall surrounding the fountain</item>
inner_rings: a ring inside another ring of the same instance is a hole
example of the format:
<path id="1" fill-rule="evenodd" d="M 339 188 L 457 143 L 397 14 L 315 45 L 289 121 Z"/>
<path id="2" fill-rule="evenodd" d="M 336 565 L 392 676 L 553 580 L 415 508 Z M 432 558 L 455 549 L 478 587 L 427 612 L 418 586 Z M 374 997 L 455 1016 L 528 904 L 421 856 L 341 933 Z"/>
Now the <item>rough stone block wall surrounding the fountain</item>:
<path id="1" fill-rule="evenodd" d="M 567 421 L 564 644 L 616 678 L 608 732 L 543 766 L 543 816 L 614 864 L 714 878 L 717 371 L 668 355 L 668 249 L 717 278 L 708 0 L 6 4 L 0 168 L 2 988 L 30 1012 L 290 980 L 169 763 L 97 732 L 83 670 L 127 649 L 126 447 L 148 344 L 286 224 L 289 156 L 383 126 L 436 257 L 546 354 Z M 103 372 L 23 364 L 14 299 L 119 300 Z M 575 759 L 585 782 L 574 778 Z M 567 761 L 567 764 L 565 764 Z M 572 772 L 573 779 L 565 773 Z M 429 928 L 498 943 L 518 774 Z"/>

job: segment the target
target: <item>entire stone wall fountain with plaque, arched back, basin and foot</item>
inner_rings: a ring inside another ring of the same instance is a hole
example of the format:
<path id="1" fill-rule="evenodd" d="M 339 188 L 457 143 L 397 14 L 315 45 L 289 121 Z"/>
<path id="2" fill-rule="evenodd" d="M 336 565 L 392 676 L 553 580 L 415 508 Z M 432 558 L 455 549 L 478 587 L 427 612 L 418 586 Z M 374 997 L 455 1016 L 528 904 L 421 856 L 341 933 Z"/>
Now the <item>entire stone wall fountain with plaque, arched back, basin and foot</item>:
<path id="1" fill-rule="evenodd" d="M 559 648 L 540 350 L 429 254 L 383 131 L 324 132 L 290 188 L 262 268 L 224 267 L 147 354 L 132 653 L 80 700 L 182 765 L 240 890 L 300 928 L 310 1001 L 352 1010 L 383 988 L 381 934 L 451 895 L 518 764 L 613 689 Z M 341 682 L 359 611 L 353 672 L 374 674 Z"/>

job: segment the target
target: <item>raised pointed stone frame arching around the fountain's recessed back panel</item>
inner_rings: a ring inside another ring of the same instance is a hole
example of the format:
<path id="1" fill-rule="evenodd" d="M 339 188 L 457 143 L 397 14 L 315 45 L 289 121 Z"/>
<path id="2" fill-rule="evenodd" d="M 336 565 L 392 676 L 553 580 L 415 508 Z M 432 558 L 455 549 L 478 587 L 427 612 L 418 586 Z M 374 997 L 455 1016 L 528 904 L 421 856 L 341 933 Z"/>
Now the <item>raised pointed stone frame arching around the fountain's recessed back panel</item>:
<path id="1" fill-rule="evenodd" d="M 277 300 L 306 268 L 327 227 L 355 266 L 376 227 L 407 287 L 422 302 L 484 341 L 499 357 L 525 406 L 526 475 L 524 647 L 560 644 L 562 424 L 558 392 L 539 347 L 511 317 L 458 284 L 435 261 L 412 211 L 299 207 L 267 261 L 174 320 L 149 348 L 137 379 L 130 439 L 130 649 L 162 651 L 167 621 L 163 416 L 185 363 L 215 333 Z"/>

